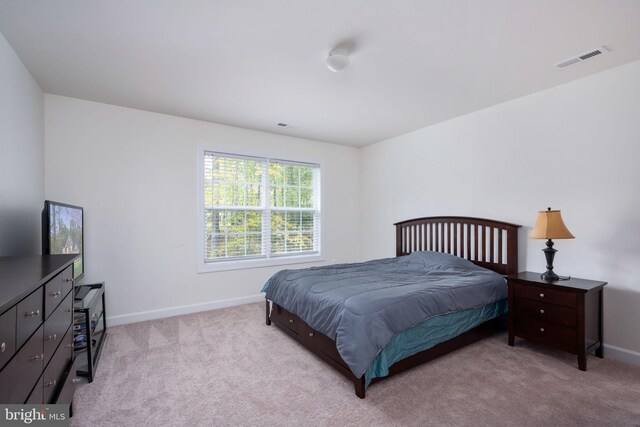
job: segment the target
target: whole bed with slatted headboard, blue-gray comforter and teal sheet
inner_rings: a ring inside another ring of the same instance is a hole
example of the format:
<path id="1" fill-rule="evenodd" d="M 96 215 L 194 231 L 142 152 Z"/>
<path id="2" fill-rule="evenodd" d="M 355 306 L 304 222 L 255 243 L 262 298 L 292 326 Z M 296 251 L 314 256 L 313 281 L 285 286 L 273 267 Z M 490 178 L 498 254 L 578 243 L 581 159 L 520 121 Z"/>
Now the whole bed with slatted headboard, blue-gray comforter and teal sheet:
<path id="1" fill-rule="evenodd" d="M 265 284 L 272 322 L 353 381 L 374 382 L 482 339 L 507 310 L 519 225 L 427 217 L 396 227 L 396 257 L 283 270 Z"/>

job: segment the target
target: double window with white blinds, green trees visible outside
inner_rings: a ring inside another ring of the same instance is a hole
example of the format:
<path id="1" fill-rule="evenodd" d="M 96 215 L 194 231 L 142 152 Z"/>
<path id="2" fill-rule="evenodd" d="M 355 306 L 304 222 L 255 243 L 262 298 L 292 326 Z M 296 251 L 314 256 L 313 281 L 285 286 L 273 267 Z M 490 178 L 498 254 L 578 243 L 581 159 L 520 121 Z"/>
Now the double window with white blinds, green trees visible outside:
<path id="1" fill-rule="evenodd" d="M 319 254 L 319 165 L 203 153 L 205 265 Z"/>

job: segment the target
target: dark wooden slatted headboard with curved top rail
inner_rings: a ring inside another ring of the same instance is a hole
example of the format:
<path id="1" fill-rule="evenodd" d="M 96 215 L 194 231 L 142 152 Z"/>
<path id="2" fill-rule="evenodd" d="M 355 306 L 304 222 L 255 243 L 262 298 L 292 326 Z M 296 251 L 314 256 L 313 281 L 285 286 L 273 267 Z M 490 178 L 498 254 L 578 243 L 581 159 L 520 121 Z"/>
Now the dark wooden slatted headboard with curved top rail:
<path id="1" fill-rule="evenodd" d="M 396 256 L 446 252 L 500 274 L 518 272 L 520 225 L 463 216 L 415 218 L 394 225 Z"/>

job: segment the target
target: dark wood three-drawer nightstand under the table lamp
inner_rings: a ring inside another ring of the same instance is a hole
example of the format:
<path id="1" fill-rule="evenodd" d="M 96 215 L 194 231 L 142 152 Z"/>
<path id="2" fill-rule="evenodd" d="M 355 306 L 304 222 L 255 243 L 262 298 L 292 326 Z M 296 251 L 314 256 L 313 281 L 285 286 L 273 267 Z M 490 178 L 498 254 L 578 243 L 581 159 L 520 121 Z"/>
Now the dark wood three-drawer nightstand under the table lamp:
<path id="1" fill-rule="evenodd" d="M 571 278 L 546 281 L 525 271 L 507 276 L 509 345 L 516 336 L 578 356 L 587 370 L 587 354 L 602 348 L 602 290 L 607 282 Z"/>

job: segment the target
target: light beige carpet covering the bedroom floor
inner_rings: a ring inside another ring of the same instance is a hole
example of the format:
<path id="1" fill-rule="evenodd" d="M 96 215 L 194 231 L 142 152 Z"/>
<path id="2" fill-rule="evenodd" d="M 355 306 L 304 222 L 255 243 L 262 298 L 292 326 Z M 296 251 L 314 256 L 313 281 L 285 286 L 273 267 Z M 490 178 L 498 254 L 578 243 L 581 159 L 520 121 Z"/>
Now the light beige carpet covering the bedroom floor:
<path id="1" fill-rule="evenodd" d="M 640 425 L 640 368 L 506 334 L 374 384 L 342 375 L 249 304 L 109 330 L 74 426 Z"/>

